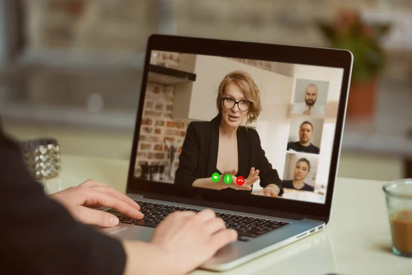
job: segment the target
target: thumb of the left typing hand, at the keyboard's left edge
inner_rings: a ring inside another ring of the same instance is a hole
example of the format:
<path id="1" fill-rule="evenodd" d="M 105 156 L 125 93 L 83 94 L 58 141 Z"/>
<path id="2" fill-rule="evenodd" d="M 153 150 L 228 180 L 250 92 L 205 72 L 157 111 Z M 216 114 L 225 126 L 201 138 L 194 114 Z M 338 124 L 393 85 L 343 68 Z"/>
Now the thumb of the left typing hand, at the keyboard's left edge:
<path id="1" fill-rule="evenodd" d="M 77 213 L 74 217 L 84 224 L 98 225 L 107 228 L 119 223 L 119 218 L 102 210 L 78 206 L 76 211 Z"/>

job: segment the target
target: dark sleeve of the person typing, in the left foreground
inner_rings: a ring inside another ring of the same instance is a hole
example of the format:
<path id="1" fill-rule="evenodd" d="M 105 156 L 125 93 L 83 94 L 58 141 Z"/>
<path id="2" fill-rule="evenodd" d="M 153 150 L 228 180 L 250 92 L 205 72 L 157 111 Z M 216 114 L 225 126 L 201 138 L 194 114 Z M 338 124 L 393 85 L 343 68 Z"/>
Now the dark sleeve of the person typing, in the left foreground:
<path id="1" fill-rule="evenodd" d="M 0 128 L 0 266 L 9 274 L 123 274 L 122 244 L 75 221 Z"/>

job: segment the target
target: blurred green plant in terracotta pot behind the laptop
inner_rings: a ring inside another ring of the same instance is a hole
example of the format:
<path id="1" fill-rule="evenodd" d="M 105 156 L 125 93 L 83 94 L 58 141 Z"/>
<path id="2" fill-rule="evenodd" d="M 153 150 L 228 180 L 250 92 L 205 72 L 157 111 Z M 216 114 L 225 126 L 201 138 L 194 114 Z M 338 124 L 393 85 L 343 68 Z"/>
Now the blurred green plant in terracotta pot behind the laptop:
<path id="1" fill-rule="evenodd" d="M 347 116 L 371 118 L 376 104 L 379 74 L 385 67 L 385 53 L 380 45 L 389 24 L 369 24 L 355 10 L 341 10 L 332 23 L 319 22 L 330 46 L 350 50 L 354 55 Z"/>

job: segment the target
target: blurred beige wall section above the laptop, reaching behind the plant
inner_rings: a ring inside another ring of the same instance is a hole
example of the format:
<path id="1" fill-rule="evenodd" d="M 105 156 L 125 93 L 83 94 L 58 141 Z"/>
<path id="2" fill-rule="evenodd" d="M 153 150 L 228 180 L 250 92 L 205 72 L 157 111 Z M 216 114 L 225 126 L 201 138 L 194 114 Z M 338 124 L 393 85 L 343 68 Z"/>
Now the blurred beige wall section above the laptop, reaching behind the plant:
<path id="1" fill-rule="evenodd" d="M 201 3 L 199 3 L 201 2 Z M 292 45 L 326 45 L 317 20 L 336 17 L 343 7 L 412 11 L 409 0 L 176 0 L 179 34 Z M 236 8 L 234 8 L 236 7 Z M 275 53 L 274 53 L 275 54 Z"/>

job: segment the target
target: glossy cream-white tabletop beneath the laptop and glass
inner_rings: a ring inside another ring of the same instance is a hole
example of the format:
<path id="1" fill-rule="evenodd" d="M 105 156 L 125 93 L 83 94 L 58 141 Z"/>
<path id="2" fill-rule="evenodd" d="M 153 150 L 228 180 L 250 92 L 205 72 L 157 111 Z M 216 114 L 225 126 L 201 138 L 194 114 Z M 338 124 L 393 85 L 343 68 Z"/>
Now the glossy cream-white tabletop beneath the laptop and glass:
<path id="1" fill-rule="evenodd" d="M 46 182 L 47 192 L 95 179 L 124 192 L 128 161 L 62 156 L 62 174 Z M 236 267 L 201 274 L 412 274 L 412 259 L 394 256 L 383 181 L 340 178 L 332 217 L 319 232 Z"/>

